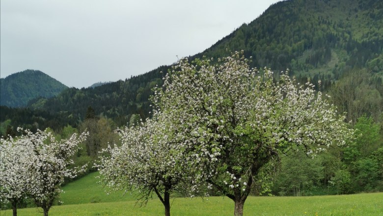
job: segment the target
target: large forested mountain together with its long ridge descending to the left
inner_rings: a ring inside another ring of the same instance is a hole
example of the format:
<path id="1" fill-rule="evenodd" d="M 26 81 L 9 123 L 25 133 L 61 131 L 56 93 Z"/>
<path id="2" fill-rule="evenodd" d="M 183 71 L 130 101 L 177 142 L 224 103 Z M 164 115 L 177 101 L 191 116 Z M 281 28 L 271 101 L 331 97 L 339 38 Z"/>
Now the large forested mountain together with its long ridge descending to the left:
<path id="1" fill-rule="evenodd" d="M 371 98 L 374 113 L 380 113 L 383 111 L 382 26 L 381 0 L 286 0 L 271 5 L 251 23 L 243 24 L 212 47 L 189 58 L 217 59 L 230 51 L 244 50 L 245 56 L 252 60 L 252 67 L 269 67 L 275 72 L 289 68 L 290 75 L 299 82 L 310 80 L 318 90 L 327 92 L 355 74 L 351 71 L 361 70 L 367 76 L 363 81 L 366 86 L 355 85 L 356 96 L 347 99 L 347 103 L 339 103 L 343 106 L 340 109 L 348 110 L 346 104 L 353 104 L 353 100 L 362 97 L 363 89 L 367 89 L 366 92 L 375 95 Z M 122 126 L 137 114 L 141 118 L 149 117 L 151 88 L 162 84 L 170 68 L 161 66 L 95 88 L 68 88 L 53 98 L 30 104 L 30 108 L 64 114 L 68 121 L 75 122 L 83 119 L 91 106 L 96 114 Z M 363 112 L 369 114 L 368 110 Z"/>

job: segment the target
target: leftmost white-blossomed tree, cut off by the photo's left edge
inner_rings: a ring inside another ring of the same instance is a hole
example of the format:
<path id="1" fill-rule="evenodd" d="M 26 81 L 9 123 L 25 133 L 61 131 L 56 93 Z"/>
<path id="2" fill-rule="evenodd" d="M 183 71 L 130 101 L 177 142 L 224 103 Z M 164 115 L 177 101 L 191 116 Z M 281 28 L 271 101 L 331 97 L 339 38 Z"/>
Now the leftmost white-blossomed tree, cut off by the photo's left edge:
<path id="1" fill-rule="evenodd" d="M 27 195 L 27 158 L 22 140 L 0 139 L 0 200 L 10 202 L 13 216 L 17 216 L 17 204 Z"/>

